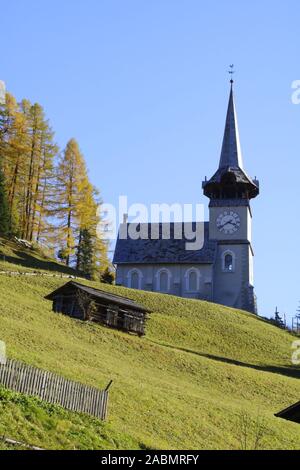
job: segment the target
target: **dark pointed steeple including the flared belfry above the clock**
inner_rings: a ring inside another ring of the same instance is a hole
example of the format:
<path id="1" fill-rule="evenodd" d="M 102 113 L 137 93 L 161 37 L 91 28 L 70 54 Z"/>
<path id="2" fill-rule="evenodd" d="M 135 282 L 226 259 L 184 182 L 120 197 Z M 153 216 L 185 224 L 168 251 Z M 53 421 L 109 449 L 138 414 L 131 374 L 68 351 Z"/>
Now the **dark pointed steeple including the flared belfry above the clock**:
<path id="1" fill-rule="evenodd" d="M 259 194 L 259 182 L 252 180 L 243 167 L 232 79 L 219 168 L 212 178 L 203 182 L 202 187 L 204 195 L 212 200 L 249 200 Z"/>

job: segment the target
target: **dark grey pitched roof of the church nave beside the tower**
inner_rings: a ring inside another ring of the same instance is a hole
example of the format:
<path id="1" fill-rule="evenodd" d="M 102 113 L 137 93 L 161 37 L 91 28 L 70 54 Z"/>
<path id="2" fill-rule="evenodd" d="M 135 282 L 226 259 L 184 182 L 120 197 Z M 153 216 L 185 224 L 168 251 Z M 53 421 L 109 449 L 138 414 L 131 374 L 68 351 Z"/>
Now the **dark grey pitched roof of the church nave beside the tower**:
<path id="1" fill-rule="evenodd" d="M 125 228 L 131 224 L 125 225 Z M 136 224 L 135 224 L 136 225 Z M 190 224 L 189 224 L 190 225 Z M 163 234 L 168 232 L 169 239 L 163 239 Z M 148 235 L 148 239 L 134 240 L 132 238 L 122 239 L 120 233 L 124 230 L 124 224 L 120 228 L 114 259 L 115 264 L 211 264 L 214 262 L 216 253 L 216 242 L 209 240 L 208 222 L 203 224 L 203 247 L 198 250 L 187 250 L 186 243 L 191 242 L 184 235 L 183 223 L 160 223 L 160 224 L 138 224 L 141 233 Z M 156 232 L 155 239 L 152 235 Z M 196 230 L 196 223 L 192 223 L 192 230 Z M 178 231 L 183 234 L 181 239 L 176 239 Z M 153 234 L 152 232 L 152 234 Z M 188 231 L 186 231 L 188 234 Z"/>

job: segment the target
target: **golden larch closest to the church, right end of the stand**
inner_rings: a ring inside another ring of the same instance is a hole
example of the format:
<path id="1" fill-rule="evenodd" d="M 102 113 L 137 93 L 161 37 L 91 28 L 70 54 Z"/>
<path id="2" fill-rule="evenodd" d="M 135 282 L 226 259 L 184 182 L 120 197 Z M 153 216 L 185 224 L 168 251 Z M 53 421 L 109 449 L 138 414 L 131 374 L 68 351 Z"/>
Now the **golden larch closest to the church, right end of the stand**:
<path id="1" fill-rule="evenodd" d="M 106 245 L 97 236 L 99 204 L 78 143 L 71 139 L 58 165 L 59 253 L 90 278 L 108 265 Z"/>

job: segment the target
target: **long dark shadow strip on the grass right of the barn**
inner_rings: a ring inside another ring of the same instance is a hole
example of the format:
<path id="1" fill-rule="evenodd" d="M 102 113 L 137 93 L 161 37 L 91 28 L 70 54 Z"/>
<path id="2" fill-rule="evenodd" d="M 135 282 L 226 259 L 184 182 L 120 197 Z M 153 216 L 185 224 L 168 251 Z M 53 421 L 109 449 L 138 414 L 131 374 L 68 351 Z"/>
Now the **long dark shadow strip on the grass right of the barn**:
<path id="1" fill-rule="evenodd" d="M 238 367 L 247 367 L 249 369 L 255 369 L 261 372 L 270 372 L 272 374 L 285 375 L 287 377 L 292 377 L 294 379 L 300 379 L 300 367 L 291 366 L 291 367 L 280 367 L 272 365 L 257 365 L 257 364 L 248 364 L 247 362 L 237 361 L 236 359 L 230 359 L 228 357 L 216 356 L 215 354 L 201 353 L 198 351 L 193 351 L 192 349 L 183 348 L 180 346 L 172 346 L 171 344 L 159 343 L 148 339 L 151 343 L 164 346 L 166 348 L 175 349 L 177 351 L 183 351 L 189 354 L 194 354 L 196 356 L 205 357 L 206 359 L 212 359 L 213 361 L 222 362 L 225 364 L 231 364 Z"/>

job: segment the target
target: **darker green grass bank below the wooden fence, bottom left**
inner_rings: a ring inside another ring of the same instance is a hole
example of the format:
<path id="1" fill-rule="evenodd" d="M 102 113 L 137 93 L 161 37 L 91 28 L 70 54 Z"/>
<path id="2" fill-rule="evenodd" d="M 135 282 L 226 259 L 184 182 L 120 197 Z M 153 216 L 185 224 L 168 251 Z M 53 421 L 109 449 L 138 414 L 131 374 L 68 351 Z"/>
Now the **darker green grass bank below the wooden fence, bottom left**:
<path id="1" fill-rule="evenodd" d="M 139 444 L 109 425 L 71 413 L 37 398 L 0 387 L 0 436 L 18 436 L 18 442 L 45 449 L 138 449 Z M 0 440 L 0 450 L 24 449 Z"/>

